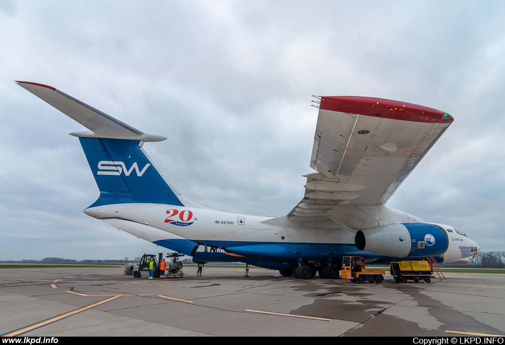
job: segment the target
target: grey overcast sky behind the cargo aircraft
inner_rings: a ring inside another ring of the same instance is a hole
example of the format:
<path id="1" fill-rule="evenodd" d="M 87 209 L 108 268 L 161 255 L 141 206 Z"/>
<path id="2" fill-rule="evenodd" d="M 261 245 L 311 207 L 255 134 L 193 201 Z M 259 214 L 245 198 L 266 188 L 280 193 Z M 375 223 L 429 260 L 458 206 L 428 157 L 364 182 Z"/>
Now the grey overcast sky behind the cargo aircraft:
<path id="1" fill-rule="evenodd" d="M 0 260 L 161 249 L 86 216 L 85 128 L 14 80 L 54 86 L 144 132 L 174 188 L 285 215 L 303 197 L 311 95 L 402 100 L 455 122 L 386 206 L 505 250 L 505 2 L 0 0 Z M 167 250 L 165 250 L 167 251 Z"/>

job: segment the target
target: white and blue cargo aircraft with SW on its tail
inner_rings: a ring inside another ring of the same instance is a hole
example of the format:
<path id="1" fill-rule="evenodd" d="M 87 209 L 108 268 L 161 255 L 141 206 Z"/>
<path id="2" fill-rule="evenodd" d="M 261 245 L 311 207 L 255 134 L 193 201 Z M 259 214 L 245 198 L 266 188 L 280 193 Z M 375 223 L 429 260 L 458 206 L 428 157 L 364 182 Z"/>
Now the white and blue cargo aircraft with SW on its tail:
<path id="1" fill-rule="evenodd" d="M 284 276 L 334 279 L 346 255 L 369 264 L 425 257 L 467 264 L 480 250 L 453 226 L 385 206 L 452 123 L 444 111 L 381 98 L 318 97 L 310 160 L 316 172 L 305 176 L 305 193 L 289 214 L 261 217 L 216 211 L 178 193 L 143 150 L 164 136 L 54 87 L 17 83 L 89 130 L 70 133 L 100 191 L 84 213 L 194 262 L 243 262 Z"/>

